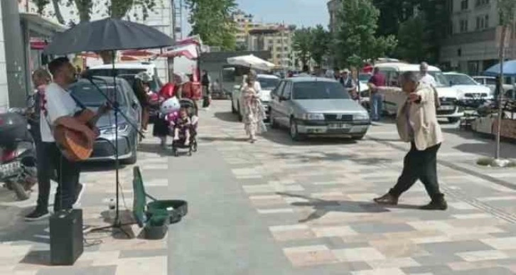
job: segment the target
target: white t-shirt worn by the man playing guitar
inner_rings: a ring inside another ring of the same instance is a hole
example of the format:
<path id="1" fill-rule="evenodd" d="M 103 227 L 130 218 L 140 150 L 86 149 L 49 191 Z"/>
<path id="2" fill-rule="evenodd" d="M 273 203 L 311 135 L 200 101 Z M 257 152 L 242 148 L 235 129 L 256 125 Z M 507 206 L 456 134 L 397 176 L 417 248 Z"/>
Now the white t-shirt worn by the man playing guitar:
<path id="1" fill-rule="evenodd" d="M 55 83 L 50 83 L 45 88 L 43 96 L 43 108 L 41 108 L 41 140 L 43 142 L 54 142 L 54 136 L 50 130 L 55 120 L 60 117 L 72 116 L 80 111 L 75 100 L 65 89 Z"/>

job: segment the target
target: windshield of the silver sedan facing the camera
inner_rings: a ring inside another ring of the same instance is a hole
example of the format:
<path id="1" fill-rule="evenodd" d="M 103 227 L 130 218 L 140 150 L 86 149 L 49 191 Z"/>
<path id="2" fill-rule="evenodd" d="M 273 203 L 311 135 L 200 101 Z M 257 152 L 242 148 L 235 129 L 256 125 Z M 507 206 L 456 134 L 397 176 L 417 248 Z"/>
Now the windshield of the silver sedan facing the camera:
<path id="1" fill-rule="evenodd" d="M 349 99 L 350 95 L 338 82 L 295 82 L 294 99 Z"/>

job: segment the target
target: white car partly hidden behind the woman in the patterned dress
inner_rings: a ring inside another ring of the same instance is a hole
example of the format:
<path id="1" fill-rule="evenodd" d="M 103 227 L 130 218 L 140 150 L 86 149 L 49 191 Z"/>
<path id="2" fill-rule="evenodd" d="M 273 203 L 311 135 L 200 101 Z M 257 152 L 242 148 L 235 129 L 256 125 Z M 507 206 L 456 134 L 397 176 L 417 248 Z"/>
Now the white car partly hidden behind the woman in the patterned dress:
<path id="1" fill-rule="evenodd" d="M 257 80 L 262 87 L 262 91 L 259 92 L 260 100 L 264 104 L 267 118 L 269 117 L 269 102 L 271 101 L 271 92 L 276 88 L 279 83 L 279 77 L 276 75 L 257 75 Z M 242 120 L 243 110 L 240 107 L 240 90 L 242 85 L 235 85 L 231 95 L 231 112 L 238 114 L 238 119 Z"/>

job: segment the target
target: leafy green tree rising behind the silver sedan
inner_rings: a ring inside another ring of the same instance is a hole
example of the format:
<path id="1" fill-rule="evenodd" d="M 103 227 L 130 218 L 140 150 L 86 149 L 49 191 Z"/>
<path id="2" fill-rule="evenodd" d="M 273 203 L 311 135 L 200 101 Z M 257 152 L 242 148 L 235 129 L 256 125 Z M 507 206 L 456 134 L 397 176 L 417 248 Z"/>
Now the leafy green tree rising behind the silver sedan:
<path id="1" fill-rule="evenodd" d="M 340 5 L 334 48 L 339 65 L 361 68 L 365 60 L 375 60 L 396 47 L 394 36 L 376 35 L 380 11 L 372 0 L 348 0 Z"/>

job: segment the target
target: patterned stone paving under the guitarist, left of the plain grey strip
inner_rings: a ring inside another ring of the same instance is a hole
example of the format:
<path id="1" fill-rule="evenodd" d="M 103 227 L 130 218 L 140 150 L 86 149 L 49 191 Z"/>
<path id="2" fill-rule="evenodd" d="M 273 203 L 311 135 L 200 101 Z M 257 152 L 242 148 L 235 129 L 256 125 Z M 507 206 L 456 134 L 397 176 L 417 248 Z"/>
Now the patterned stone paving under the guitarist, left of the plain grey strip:
<path id="1" fill-rule="evenodd" d="M 166 156 L 157 150 L 155 139 L 141 144 L 138 165 L 146 180 L 146 189 L 158 198 L 166 198 L 168 164 Z M 114 212 L 108 210 L 109 200 L 114 199 L 114 169 L 106 163 L 87 165 L 81 175 L 85 183 L 80 207 L 84 225 L 97 227 L 110 225 Z M 131 221 L 132 167 L 120 171 L 122 195 L 120 210 L 124 222 Z M 55 185 L 50 202 L 53 203 Z M 2 275 L 130 275 L 166 274 L 166 239 L 149 241 L 141 238 L 137 226 L 124 227 L 133 236 L 99 232 L 85 235 L 85 252 L 74 266 L 50 266 L 48 220 L 25 222 L 23 216 L 36 205 L 36 193 L 30 200 L 17 202 L 14 195 L 0 189 L 0 274 Z M 51 206 L 50 206 L 51 208 Z"/>

